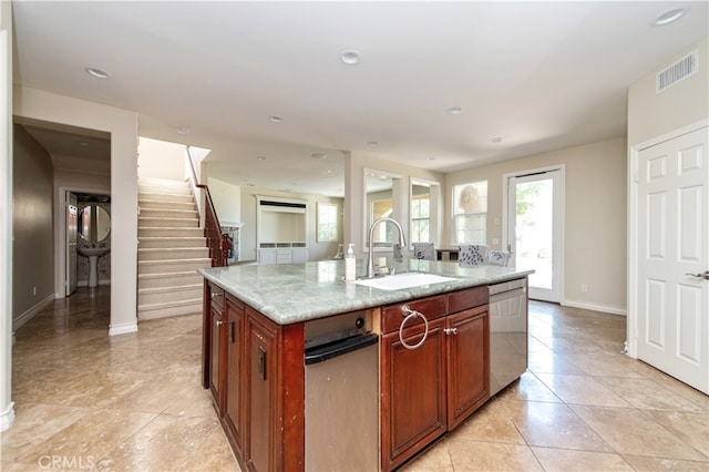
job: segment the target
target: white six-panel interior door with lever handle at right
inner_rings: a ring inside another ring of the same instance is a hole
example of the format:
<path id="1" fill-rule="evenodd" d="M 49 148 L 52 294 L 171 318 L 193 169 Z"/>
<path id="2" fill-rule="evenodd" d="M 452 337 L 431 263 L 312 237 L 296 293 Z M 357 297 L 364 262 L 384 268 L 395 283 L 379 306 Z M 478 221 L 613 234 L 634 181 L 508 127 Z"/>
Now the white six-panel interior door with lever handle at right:
<path id="1" fill-rule="evenodd" d="M 705 393 L 709 393 L 708 130 L 638 153 L 635 249 L 638 359 Z"/>

